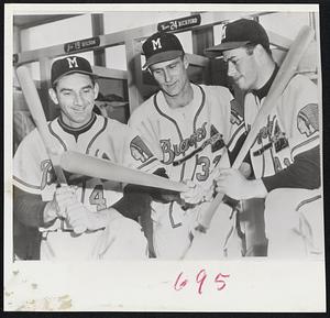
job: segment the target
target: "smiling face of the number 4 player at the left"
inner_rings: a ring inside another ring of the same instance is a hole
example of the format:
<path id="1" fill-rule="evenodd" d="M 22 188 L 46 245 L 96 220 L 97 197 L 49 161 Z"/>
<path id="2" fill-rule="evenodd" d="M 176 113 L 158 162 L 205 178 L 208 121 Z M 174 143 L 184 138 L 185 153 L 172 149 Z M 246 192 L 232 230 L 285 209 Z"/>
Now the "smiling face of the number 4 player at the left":
<path id="1" fill-rule="evenodd" d="M 50 96 L 61 107 L 64 123 L 73 128 L 86 124 L 92 116 L 92 108 L 99 87 L 90 76 L 73 73 L 62 77 Z"/>

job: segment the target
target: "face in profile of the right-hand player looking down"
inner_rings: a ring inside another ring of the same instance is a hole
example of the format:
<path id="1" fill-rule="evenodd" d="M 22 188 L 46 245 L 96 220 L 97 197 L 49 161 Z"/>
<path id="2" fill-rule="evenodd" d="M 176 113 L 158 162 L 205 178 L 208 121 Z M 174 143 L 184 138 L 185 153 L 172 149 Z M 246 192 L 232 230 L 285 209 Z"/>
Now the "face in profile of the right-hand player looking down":
<path id="1" fill-rule="evenodd" d="M 228 76 L 242 90 L 257 89 L 257 62 L 255 54 L 248 54 L 245 47 L 223 52 L 223 59 L 228 63 Z"/>

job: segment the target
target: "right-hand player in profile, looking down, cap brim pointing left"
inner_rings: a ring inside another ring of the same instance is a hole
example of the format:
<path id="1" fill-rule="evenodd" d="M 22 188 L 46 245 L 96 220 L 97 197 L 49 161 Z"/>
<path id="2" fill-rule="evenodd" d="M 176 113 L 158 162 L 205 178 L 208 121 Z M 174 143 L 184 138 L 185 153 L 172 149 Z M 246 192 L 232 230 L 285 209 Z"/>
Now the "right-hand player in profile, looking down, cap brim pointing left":
<path id="1" fill-rule="evenodd" d="M 208 48 L 228 63 L 228 75 L 246 92 L 246 130 L 263 106 L 278 72 L 265 30 L 253 20 L 226 25 L 220 45 Z M 252 147 L 249 179 L 220 169 L 217 190 L 238 200 L 264 198 L 268 256 L 299 257 L 322 252 L 319 99 L 307 77 L 290 78 Z M 262 217 L 262 212 L 260 217 Z"/>

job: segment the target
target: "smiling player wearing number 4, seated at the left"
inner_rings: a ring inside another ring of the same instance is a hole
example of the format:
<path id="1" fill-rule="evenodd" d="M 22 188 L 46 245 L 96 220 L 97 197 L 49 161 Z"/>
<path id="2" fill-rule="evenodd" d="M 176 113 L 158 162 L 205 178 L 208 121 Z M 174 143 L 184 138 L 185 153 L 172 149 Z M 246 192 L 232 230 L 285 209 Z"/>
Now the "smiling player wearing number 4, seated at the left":
<path id="1" fill-rule="evenodd" d="M 99 87 L 88 61 L 69 56 L 54 62 L 51 81 L 50 96 L 61 109 L 59 117 L 47 123 L 53 149 L 145 172 L 155 169 L 157 161 L 138 134 L 92 112 Z M 121 185 L 66 174 L 68 184 L 56 186 L 53 164 L 36 129 L 19 145 L 13 172 L 14 213 L 25 226 L 41 229 L 42 260 L 146 257 L 140 224 L 113 206 L 122 197 Z"/>

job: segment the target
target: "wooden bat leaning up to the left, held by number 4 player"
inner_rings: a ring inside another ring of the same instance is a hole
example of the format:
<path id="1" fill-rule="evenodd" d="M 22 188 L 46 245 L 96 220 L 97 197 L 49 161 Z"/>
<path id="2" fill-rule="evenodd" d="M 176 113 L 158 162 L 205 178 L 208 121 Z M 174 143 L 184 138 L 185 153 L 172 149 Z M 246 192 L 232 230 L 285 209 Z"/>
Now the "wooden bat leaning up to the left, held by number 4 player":
<path id="1" fill-rule="evenodd" d="M 61 155 L 58 151 L 56 150 L 48 132 L 47 128 L 47 121 L 44 113 L 44 109 L 42 106 L 42 102 L 40 100 L 37 90 L 35 88 L 35 85 L 33 83 L 33 79 L 31 78 L 30 72 L 25 66 L 20 66 L 16 68 L 16 75 L 20 83 L 20 86 L 22 88 L 23 95 L 25 97 L 29 110 L 31 112 L 31 116 L 34 120 L 34 123 L 36 125 L 36 129 L 42 138 L 42 141 L 44 143 L 44 146 L 46 149 L 46 152 L 51 158 L 57 183 L 61 184 L 67 184 L 66 177 L 64 175 L 64 172 L 62 167 L 59 166 L 59 158 Z M 85 232 L 85 227 L 76 227 L 74 231 L 76 233 L 82 233 Z"/>

